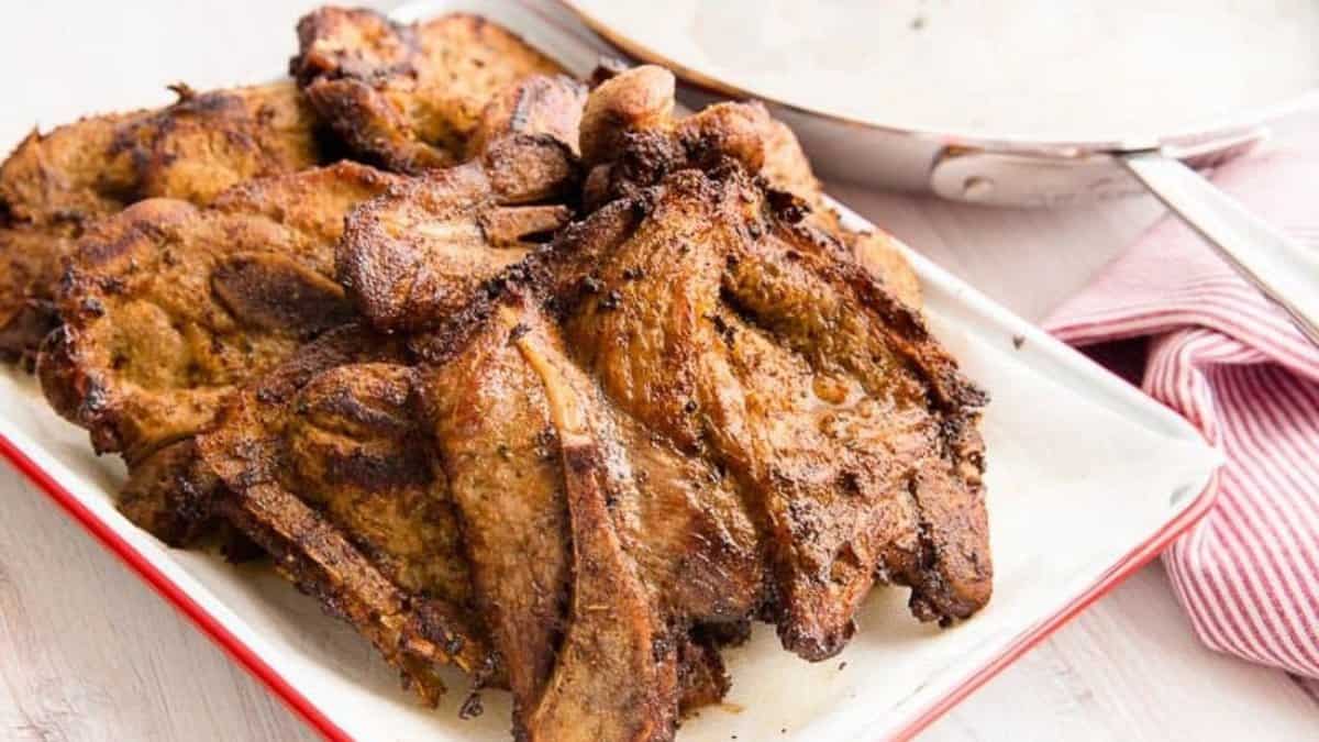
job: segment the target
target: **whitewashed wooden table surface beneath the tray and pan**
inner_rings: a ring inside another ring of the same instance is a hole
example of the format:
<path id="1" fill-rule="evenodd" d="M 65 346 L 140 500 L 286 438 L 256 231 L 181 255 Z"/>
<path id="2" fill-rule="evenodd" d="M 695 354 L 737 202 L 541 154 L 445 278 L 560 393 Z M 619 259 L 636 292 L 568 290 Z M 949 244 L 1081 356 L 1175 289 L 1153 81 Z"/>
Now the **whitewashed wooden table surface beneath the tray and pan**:
<path id="1" fill-rule="evenodd" d="M 311 3 L 0 8 L 0 145 L 33 123 L 269 78 Z M 21 5 L 21 7 L 20 7 Z M 836 186 L 843 202 L 1038 320 L 1159 214 L 998 211 Z M 0 738 L 311 739 L 259 683 L 0 465 Z M 1202 648 L 1155 564 L 938 721 L 930 739 L 1314 739 L 1319 704 Z"/>

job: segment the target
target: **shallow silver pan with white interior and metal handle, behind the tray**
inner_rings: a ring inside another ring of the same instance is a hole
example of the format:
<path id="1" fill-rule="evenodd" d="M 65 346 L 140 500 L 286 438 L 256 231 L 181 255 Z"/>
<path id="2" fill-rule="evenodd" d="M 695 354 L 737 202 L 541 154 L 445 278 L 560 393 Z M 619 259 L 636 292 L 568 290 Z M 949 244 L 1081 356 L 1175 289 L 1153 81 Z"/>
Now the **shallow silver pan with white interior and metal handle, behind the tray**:
<path id="1" fill-rule="evenodd" d="M 1196 173 L 1250 151 L 1270 123 L 1319 104 L 1315 3 L 565 0 L 565 5 L 628 55 L 675 70 L 692 104 L 764 100 L 831 177 L 1002 206 L 1058 206 L 1149 190 L 1319 343 L 1319 256 Z M 826 20 L 816 24 L 816 16 Z M 896 36 L 902 26 L 910 40 Z M 1054 36 L 1033 44 L 1041 29 Z M 777 42 L 762 38 L 776 36 Z M 864 44 L 871 37 L 907 57 L 919 57 L 926 48 L 938 50 L 938 57 L 926 55 L 919 66 L 855 46 L 857 38 Z M 852 38 L 853 46 L 835 53 L 830 45 L 843 38 Z M 1034 69 L 1024 66 L 1022 59 L 1041 50 Z M 766 70 L 757 69 L 758 58 L 766 59 Z M 864 77 L 844 81 L 839 75 L 851 73 L 826 67 L 816 86 L 787 67 L 809 67 L 822 58 L 842 66 L 882 59 L 892 69 L 869 74 L 915 79 L 901 81 L 906 88 L 868 84 Z M 959 88 L 962 77 L 975 78 L 971 73 L 1006 61 L 1013 61 L 1006 66 L 1016 77 L 998 81 L 1004 84 L 998 95 Z M 1059 69 L 1050 70 L 1050 61 Z M 783 70 L 795 75 L 791 84 L 783 83 Z M 1049 71 L 1057 73 L 1051 86 Z M 917 73 L 929 73 L 929 79 Z M 1059 86 L 1059 74 L 1074 74 L 1075 88 L 1067 88 L 1066 77 Z M 845 84 L 848 95 L 889 94 L 890 112 L 877 114 L 874 106 L 857 112 L 849 110 L 857 108 L 849 99 L 818 94 L 831 84 Z M 1037 84 L 1043 88 L 1038 99 Z M 905 116 L 904 96 L 894 90 L 925 103 L 923 118 Z M 973 116 L 969 123 L 940 119 L 930 104 L 942 100 L 943 112 L 955 118 L 963 99 L 968 107 L 991 111 L 995 99 L 1005 103 L 987 125 L 976 125 Z M 1124 104 L 1133 107 L 1125 118 Z M 1078 120 L 1086 111 L 1096 125 Z"/>

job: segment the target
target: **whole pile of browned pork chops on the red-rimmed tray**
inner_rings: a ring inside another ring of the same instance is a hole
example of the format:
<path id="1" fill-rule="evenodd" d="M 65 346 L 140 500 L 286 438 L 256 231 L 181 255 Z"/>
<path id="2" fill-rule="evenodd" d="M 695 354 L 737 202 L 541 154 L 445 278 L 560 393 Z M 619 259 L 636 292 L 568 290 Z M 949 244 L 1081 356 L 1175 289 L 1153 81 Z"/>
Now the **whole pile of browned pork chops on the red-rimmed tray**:
<path id="1" fill-rule="evenodd" d="M 984 395 L 761 106 L 679 119 L 666 70 L 588 87 L 470 15 L 298 40 L 0 166 L 0 353 L 135 523 L 255 543 L 520 739 L 670 739 L 751 622 L 822 660 L 876 584 L 985 605 Z"/>

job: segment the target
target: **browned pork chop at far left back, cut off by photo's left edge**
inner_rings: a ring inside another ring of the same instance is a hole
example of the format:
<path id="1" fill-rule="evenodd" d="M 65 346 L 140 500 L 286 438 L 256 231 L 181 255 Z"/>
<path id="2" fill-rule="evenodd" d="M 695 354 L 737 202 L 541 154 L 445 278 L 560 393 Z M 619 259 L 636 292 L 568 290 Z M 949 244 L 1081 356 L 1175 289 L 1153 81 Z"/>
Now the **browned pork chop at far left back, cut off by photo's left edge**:
<path id="1" fill-rule="evenodd" d="M 158 111 L 34 132 L 0 165 L 0 356 L 34 358 L 57 322 L 63 259 L 96 220 L 150 197 L 206 205 L 240 181 L 323 158 L 291 82 L 175 91 Z"/>

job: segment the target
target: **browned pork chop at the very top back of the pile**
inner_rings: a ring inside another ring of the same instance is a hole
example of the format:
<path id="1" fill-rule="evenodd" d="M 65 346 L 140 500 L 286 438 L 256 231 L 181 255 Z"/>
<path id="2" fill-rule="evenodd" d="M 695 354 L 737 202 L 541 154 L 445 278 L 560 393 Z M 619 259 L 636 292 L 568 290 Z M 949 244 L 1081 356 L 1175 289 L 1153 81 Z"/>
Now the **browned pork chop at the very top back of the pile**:
<path id="1" fill-rule="evenodd" d="M 480 152 L 487 104 L 533 74 L 563 69 L 508 29 L 450 13 L 402 25 L 368 9 L 326 7 L 298 22 L 290 73 L 359 156 L 419 173 Z"/>

